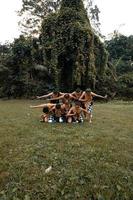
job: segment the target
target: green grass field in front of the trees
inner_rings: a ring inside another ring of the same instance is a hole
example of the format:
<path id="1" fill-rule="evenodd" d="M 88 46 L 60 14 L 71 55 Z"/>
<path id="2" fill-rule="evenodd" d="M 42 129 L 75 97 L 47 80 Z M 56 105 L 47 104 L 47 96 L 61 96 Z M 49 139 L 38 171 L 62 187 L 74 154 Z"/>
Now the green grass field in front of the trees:
<path id="1" fill-rule="evenodd" d="M 92 124 L 40 123 L 40 102 L 0 101 L 0 200 L 133 200 L 133 102 Z"/>

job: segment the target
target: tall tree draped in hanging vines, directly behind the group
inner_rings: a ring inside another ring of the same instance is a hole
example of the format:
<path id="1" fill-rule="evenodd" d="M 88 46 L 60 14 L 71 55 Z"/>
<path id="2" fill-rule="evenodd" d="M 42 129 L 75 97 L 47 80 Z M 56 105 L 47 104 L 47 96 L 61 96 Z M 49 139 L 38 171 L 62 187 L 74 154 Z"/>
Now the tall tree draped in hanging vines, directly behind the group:
<path id="1" fill-rule="evenodd" d="M 57 87 L 95 89 L 99 80 L 112 78 L 107 51 L 91 28 L 82 0 L 62 0 L 60 10 L 44 19 L 41 37 L 44 64 Z"/>

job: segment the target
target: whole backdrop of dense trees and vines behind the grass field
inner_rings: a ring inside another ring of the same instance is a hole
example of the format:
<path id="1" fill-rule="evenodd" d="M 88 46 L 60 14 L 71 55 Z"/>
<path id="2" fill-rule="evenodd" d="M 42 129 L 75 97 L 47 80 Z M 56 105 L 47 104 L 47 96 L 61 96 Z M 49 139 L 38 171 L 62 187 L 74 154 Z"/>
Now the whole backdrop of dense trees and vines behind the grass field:
<path id="1" fill-rule="evenodd" d="M 22 35 L 0 44 L 0 97 L 76 87 L 133 98 L 133 35 L 103 40 L 92 0 L 23 0 Z"/>

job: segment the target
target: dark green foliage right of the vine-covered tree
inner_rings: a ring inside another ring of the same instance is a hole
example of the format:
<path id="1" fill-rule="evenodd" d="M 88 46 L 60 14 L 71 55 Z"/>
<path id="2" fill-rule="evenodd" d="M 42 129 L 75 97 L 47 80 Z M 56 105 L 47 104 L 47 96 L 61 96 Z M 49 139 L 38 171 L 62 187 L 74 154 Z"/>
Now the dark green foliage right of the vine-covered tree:
<path id="1" fill-rule="evenodd" d="M 110 59 L 118 76 L 117 94 L 121 98 L 133 98 L 133 36 L 115 37 L 106 42 Z"/>

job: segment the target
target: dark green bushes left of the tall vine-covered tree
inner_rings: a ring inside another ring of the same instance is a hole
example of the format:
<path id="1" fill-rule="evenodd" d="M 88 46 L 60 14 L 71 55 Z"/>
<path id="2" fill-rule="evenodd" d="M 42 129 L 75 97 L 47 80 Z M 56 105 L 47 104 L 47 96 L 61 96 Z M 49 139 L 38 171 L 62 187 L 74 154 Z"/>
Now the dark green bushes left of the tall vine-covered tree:
<path id="1" fill-rule="evenodd" d="M 49 90 L 51 78 L 40 64 L 43 56 L 38 41 L 24 36 L 16 39 L 0 65 L 0 96 L 30 97 Z"/>

